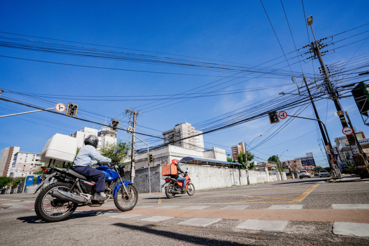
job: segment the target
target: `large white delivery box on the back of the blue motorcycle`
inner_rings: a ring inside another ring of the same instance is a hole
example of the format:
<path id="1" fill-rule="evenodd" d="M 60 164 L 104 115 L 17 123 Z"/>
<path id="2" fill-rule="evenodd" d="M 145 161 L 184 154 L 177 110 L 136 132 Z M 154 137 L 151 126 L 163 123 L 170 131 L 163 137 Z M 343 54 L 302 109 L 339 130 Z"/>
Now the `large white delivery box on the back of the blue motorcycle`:
<path id="1" fill-rule="evenodd" d="M 55 159 L 55 164 L 73 162 L 77 153 L 77 139 L 63 134 L 55 134 L 45 144 L 40 161 L 49 162 Z"/>

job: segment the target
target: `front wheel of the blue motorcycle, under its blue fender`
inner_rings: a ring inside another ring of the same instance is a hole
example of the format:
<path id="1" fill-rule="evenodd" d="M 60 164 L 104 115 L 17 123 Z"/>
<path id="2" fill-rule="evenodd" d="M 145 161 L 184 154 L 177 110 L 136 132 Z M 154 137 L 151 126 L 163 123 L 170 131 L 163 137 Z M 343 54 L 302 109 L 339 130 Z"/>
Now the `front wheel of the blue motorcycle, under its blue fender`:
<path id="1" fill-rule="evenodd" d="M 121 187 L 118 193 L 114 197 L 114 204 L 120 211 L 129 211 L 134 208 L 138 200 L 138 192 L 133 184 L 125 186 L 128 194 L 125 194 L 124 189 Z"/>

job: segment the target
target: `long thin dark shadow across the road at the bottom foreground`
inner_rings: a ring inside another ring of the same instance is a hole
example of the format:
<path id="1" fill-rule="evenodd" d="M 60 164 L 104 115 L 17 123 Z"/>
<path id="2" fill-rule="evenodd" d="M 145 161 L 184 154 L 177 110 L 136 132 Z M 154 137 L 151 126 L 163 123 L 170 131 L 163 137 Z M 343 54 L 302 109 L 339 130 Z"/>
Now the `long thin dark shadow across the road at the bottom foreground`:
<path id="1" fill-rule="evenodd" d="M 136 231 L 142 231 L 142 232 L 146 232 L 146 233 L 152 233 L 158 236 L 163 236 L 163 237 L 167 237 L 170 238 L 171 240 L 173 239 L 177 239 L 177 240 L 181 240 L 184 241 L 184 243 L 192 243 L 192 244 L 198 244 L 198 245 L 234 245 L 234 246 L 245 246 L 245 244 L 239 244 L 239 243 L 235 243 L 235 242 L 229 242 L 229 241 L 224 241 L 224 240 L 216 240 L 216 239 L 209 239 L 209 238 L 202 238 L 202 237 L 197 237 L 197 236 L 188 236 L 188 235 L 184 235 L 181 233 L 175 233 L 175 232 L 170 232 L 170 231 L 162 231 L 162 230 L 156 230 L 153 228 L 150 228 L 150 225 L 147 226 L 138 226 L 138 225 L 129 225 L 129 224 L 124 224 L 124 223 L 115 223 L 113 225 L 116 226 L 121 226 L 124 228 L 128 228 L 131 230 L 136 230 Z"/>

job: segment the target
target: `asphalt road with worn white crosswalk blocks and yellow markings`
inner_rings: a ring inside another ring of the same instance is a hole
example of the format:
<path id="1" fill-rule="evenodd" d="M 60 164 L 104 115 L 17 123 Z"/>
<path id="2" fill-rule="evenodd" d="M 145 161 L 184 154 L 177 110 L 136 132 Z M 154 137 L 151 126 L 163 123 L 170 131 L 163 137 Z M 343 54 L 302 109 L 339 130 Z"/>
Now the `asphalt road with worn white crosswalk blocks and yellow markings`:
<path id="1" fill-rule="evenodd" d="M 325 180 L 140 194 L 129 212 L 111 200 L 57 223 L 38 219 L 35 195 L 0 195 L 0 245 L 369 245 L 369 182 Z"/>

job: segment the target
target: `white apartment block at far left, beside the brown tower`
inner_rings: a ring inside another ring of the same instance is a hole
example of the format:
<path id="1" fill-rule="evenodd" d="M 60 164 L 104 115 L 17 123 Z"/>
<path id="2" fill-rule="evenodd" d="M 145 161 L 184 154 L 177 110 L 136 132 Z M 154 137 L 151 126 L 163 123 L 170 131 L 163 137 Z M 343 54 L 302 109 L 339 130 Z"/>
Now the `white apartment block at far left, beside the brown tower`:
<path id="1" fill-rule="evenodd" d="M 44 164 L 39 160 L 40 154 L 38 153 L 18 152 L 14 154 L 13 162 L 8 167 L 6 176 L 26 177 L 39 170 L 39 166 Z"/>

